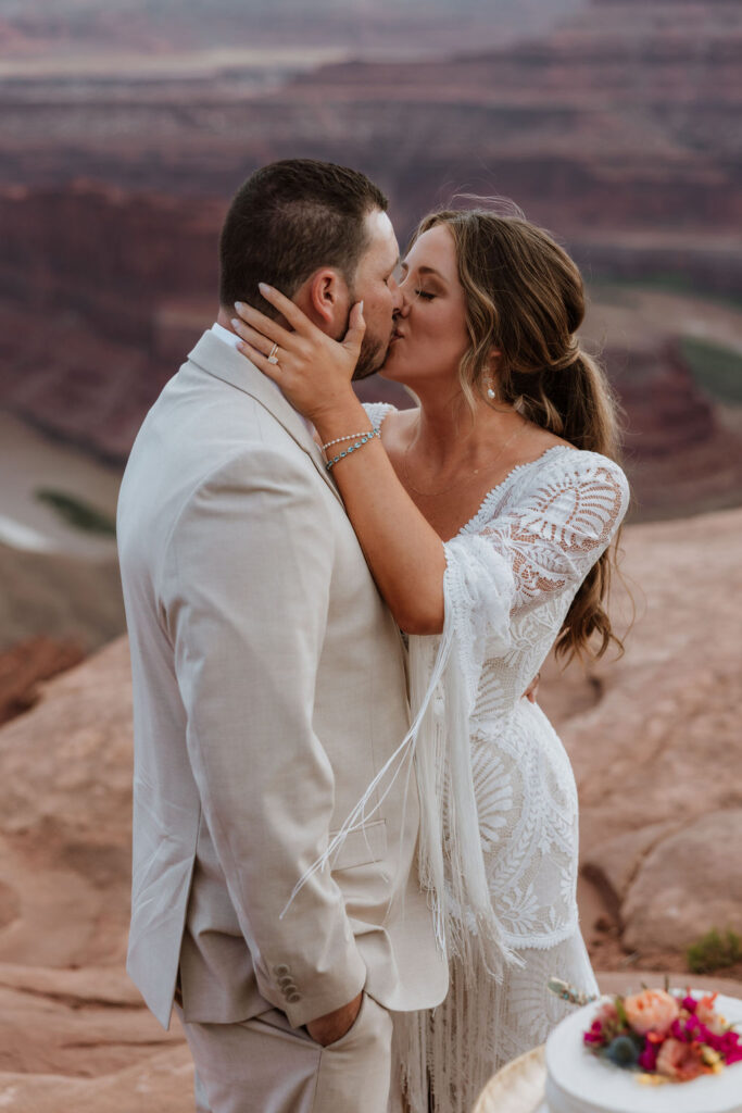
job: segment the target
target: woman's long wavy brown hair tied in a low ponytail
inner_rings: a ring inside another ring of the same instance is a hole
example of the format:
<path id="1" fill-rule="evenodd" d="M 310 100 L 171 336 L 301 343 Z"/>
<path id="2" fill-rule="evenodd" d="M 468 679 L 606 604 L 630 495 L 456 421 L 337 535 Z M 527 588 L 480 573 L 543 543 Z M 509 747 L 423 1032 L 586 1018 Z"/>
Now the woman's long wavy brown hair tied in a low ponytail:
<path id="1" fill-rule="evenodd" d="M 504 402 L 528 421 L 576 449 L 619 460 L 620 408 L 605 373 L 584 352 L 575 333 L 585 315 L 582 275 L 566 252 L 522 216 L 486 208 L 443 209 L 426 216 L 414 234 L 445 225 L 454 237 L 458 278 L 466 295 L 471 346 L 459 377 L 467 402 L 488 401 L 492 349 L 498 349 L 497 405 Z M 492 404 L 492 403 L 489 403 Z M 619 534 L 582 583 L 556 640 L 556 656 L 600 658 L 614 633 L 603 607 L 616 569 Z"/>

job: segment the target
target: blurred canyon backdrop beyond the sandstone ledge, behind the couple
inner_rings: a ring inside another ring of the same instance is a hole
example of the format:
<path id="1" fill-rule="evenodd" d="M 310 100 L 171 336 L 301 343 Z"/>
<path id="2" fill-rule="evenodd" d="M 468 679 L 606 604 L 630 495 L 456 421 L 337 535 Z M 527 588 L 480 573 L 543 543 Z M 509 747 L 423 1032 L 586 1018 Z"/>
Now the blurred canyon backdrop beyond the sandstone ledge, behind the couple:
<path id="1" fill-rule="evenodd" d="M 365 170 L 403 244 L 513 198 L 586 276 L 633 520 L 736 505 L 741 42 L 730 0 L 0 0 L 0 650 L 122 629 L 121 469 L 276 158 Z"/>

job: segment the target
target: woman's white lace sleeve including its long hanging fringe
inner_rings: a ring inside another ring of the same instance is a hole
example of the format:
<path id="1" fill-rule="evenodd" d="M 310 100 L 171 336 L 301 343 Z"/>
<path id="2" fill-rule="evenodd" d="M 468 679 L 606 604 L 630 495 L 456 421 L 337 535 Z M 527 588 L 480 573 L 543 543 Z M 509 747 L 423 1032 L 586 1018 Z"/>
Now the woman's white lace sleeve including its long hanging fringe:
<path id="1" fill-rule="evenodd" d="M 373 407 L 367 411 L 372 416 Z M 445 544 L 443 634 L 409 638 L 413 725 L 300 883 L 368 820 L 414 755 L 419 878 L 431 893 L 436 936 L 466 971 L 476 969 L 478 954 L 497 981 L 506 964 L 522 959 L 507 945 L 493 906 L 479 838 L 469 728 L 482 666 L 512 649 L 514 618 L 524 610 L 558 593 L 568 605 L 629 504 L 625 476 L 612 461 L 572 450 L 553 460 L 538 470 L 537 483 L 512 485 L 497 516 L 485 501 Z"/>

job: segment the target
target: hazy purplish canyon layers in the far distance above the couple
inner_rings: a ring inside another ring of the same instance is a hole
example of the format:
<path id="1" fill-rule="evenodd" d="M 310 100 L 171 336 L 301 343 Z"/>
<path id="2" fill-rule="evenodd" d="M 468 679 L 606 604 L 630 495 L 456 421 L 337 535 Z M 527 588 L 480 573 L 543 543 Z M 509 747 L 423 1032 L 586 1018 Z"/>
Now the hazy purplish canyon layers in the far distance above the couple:
<path id="1" fill-rule="evenodd" d="M 728 0 L 601 0 L 501 51 L 329 66 L 273 91 L 228 69 L 4 82 L 3 178 L 59 184 L 75 167 L 227 196 L 260 162 L 314 154 L 378 178 L 403 228 L 467 186 L 515 197 L 575 243 L 663 227 L 679 250 L 693 229 L 736 234 L 741 47 Z"/>

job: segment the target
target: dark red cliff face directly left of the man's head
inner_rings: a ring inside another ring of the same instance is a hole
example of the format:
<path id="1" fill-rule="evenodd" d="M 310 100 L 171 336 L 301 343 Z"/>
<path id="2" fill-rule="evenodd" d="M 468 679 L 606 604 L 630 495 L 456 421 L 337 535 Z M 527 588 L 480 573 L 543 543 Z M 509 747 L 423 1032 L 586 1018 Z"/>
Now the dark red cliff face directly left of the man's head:
<path id="1" fill-rule="evenodd" d="M 151 346 L 160 301 L 217 290 L 218 201 L 130 195 L 77 180 L 0 198 L 0 297 L 78 314 L 101 337 Z"/>

